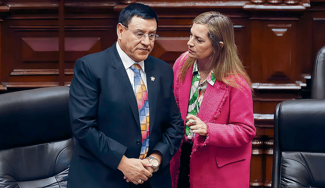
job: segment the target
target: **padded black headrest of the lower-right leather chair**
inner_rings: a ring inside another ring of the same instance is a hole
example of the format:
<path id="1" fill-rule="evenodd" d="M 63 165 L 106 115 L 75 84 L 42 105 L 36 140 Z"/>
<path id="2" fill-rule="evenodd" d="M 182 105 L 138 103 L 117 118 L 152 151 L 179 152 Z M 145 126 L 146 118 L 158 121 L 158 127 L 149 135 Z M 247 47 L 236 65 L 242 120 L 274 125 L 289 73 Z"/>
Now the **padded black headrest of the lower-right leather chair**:
<path id="1" fill-rule="evenodd" d="M 282 151 L 325 152 L 325 99 L 283 101 L 275 118 Z"/>

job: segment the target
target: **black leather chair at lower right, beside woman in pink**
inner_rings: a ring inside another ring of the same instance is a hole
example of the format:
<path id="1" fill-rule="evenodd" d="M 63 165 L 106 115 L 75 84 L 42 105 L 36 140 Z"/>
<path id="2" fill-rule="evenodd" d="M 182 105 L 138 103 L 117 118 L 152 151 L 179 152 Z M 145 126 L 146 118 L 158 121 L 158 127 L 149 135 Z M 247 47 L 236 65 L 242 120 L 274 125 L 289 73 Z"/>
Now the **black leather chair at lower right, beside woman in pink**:
<path id="1" fill-rule="evenodd" d="M 324 99 L 276 106 L 272 187 L 325 187 Z"/>

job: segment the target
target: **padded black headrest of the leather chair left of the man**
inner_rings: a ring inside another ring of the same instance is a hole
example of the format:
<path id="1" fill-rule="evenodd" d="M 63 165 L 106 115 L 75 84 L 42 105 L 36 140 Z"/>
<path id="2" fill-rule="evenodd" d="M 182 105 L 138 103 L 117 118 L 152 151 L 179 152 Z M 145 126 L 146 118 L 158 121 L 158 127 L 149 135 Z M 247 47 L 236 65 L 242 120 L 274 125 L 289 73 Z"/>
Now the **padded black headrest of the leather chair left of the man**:
<path id="1" fill-rule="evenodd" d="M 0 149 L 71 138 L 69 87 L 0 95 Z"/>

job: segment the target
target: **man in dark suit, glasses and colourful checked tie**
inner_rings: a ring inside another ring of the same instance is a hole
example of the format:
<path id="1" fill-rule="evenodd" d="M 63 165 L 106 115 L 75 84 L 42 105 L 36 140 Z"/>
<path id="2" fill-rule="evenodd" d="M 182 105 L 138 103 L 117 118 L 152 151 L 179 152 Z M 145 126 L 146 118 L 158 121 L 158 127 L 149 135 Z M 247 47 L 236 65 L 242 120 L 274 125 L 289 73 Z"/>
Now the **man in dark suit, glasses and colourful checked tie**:
<path id="1" fill-rule="evenodd" d="M 68 187 L 172 186 L 169 163 L 184 124 L 172 67 L 149 56 L 157 24 L 150 7 L 129 5 L 119 16 L 117 43 L 77 60 L 69 99 L 75 148 Z"/>

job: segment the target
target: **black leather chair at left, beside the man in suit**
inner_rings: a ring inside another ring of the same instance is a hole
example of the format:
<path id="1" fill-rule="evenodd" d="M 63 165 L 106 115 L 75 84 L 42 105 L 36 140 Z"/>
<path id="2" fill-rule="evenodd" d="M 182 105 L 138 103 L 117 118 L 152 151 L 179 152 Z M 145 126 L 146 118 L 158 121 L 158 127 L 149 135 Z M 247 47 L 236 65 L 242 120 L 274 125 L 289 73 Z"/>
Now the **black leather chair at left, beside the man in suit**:
<path id="1" fill-rule="evenodd" d="M 68 175 L 73 151 L 68 100 L 64 86 L 0 95 L 0 187 L 42 187 Z"/>

